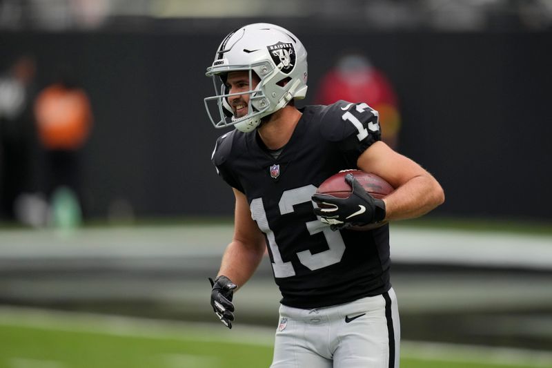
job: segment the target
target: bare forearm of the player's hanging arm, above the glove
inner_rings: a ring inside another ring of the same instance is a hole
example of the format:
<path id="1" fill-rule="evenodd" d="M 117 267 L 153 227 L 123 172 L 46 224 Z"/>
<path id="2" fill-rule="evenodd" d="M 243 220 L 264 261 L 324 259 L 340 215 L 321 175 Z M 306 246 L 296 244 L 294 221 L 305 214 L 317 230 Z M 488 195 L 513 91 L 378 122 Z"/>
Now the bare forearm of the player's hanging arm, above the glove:
<path id="1" fill-rule="evenodd" d="M 219 275 L 242 287 L 255 273 L 264 254 L 264 246 L 246 246 L 242 242 L 233 241 L 228 244 L 222 257 Z"/>

